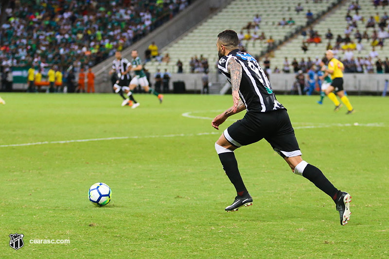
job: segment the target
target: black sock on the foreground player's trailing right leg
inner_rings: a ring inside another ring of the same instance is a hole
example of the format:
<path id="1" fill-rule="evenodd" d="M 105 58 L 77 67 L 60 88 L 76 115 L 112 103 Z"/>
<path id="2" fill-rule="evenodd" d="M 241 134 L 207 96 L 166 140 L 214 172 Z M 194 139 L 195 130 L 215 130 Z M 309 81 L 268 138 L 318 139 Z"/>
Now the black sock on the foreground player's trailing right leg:
<path id="1" fill-rule="evenodd" d="M 316 187 L 329 195 L 333 200 L 336 199 L 338 190 L 332 185 L 332 183 L 321 173 L 317 167 L 307 164 L 302 172 L 302 176 L 310 180 L 316 185 Z"/>

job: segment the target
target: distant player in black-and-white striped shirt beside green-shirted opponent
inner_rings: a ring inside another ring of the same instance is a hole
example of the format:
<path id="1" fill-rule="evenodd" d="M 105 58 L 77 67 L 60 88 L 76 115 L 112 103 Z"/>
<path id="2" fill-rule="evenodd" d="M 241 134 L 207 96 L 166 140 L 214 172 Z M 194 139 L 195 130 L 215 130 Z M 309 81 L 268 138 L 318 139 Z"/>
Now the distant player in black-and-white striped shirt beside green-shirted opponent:
<path id="1" fill-rule="evenodd" d="M 130 100 L 136 104 L 137 101 L 135 101 L 132 91 L 130 90 L 130 87 L 128 87 L 131 81 L 129 73 L 131 64 L 126 58 L 122 58 L 122 53 L 119 51 L 115 52 L 115 57 L 116 59 L 112 62 L 112 69 L 109 71 L 110 75 L 116 73 L 118 77 L 118 80 L 113 85 L 113 89 L 115 90 L 115 93 L 119 93 L 124 99 L 122 106 L 130 104 Z M 124 97 L 123 92 L 127 95 L 127 98 Z"/>

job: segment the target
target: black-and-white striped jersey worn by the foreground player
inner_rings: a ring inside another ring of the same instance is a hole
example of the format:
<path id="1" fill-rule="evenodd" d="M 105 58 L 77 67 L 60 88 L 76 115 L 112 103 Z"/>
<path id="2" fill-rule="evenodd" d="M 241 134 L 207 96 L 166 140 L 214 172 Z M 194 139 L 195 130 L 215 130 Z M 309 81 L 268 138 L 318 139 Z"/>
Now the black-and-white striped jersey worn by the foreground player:
<path id="1" fill-rule="evenodd" d="M 253 56 L 238 49 L 231 51 L 227 56 L 220 58 L 217 67 L 231 83 L 230 73 L 227 70 L 228 62 L 234 58 L 242 66 L 242 81 L 239 86 L 239 95 L 246 105 L 247 111 L 268 112 L 284 109 L 280 104 L 264 70 Z"/>

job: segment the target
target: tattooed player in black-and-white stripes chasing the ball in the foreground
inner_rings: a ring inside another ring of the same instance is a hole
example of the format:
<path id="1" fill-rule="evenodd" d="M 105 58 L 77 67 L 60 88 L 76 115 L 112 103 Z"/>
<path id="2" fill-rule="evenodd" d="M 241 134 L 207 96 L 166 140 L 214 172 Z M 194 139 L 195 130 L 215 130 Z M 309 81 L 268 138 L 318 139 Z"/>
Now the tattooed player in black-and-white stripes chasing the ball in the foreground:
<path id="1" fill-rule="evenodd" d="M 337 190 L 317 167 L 301 159 L 286 109 L 277 101 L 264 70 L 250 54 L 240 52 L 238 44 L 238 35 L 232 30 L 217 35 L 218 68 L 231 83 L 233 106 L 217 115 L 212 126 L 218 130 L 229 116 L 247 110 L 244 118 L 230 125 L 215 143 L 223 169 L 237 192 L 234 202 L 225 210 L 236 211 L 253 201 L 239 173 L 234 150 L 265 138 L 293 173 L 307 178 L 334 200 L 340 224 L 347 224 L 351 196 Z"/>

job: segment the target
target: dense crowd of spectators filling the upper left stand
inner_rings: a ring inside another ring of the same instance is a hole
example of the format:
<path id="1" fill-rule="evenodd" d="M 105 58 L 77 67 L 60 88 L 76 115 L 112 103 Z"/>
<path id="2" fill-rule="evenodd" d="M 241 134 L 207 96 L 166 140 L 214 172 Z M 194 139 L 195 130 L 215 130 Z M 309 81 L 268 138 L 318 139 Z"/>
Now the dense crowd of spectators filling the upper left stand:
<path id="1" fill-rule="evenodd" d="M 33 63 L 92 67 L 183 10 L 191 0 L 10 0 L 1 10 L 3 69 Z M 77 71 L 77 72 L 78 72 Z"/>

